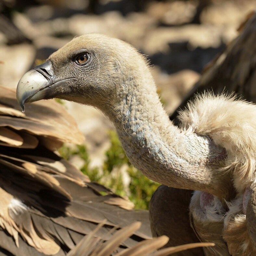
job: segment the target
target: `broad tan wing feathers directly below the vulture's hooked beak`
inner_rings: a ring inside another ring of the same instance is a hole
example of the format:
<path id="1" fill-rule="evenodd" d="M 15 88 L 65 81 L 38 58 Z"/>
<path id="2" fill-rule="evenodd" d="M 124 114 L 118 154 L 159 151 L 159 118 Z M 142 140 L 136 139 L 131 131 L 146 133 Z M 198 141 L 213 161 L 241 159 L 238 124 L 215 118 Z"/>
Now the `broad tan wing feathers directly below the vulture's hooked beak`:
<path id="1" fill-rule="evenodd" d="M 26 113 L 23 114 L 16 100 L 15 91 L 2 86 L 0 89 L 0 104 L 6 107 L 2 111 L 0 109 L 0 126 L 6 126 L 6 123 L 15 130 L 23 129 L 32 134 L 50 136 L 61 142 L 83 142 L 84 137 L 74 119 L 54 100 L 30 104 L 26 106 Z"/>

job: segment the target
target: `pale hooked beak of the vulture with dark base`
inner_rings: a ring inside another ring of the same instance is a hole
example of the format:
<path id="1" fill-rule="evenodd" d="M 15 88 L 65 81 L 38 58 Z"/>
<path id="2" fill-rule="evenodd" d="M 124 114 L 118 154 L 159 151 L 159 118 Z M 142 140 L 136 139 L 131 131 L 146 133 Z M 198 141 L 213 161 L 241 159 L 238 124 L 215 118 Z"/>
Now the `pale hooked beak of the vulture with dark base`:
<path id="1" fill-rule="evenodd" d="M 24 112 L 25 102 L 34 102 L 41 99 L 53 98 L 56 95 L 56 88 L 59 85 L 53 71 L 50 60 L 29 70 L 19 80 L 16 97 L 19 106 Z"/>

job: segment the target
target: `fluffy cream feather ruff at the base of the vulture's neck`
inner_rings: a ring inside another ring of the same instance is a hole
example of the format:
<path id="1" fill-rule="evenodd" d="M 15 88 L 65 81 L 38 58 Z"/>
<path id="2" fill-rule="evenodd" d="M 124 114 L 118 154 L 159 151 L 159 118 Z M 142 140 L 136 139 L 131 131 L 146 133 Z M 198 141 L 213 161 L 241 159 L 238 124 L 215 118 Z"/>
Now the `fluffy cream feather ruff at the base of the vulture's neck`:
<path id="1" fill-rule="evenodd" d="M 234 186 L 243 193 L 255 179 L 256 105 L 230 96 L 198 95 L 180 112 L 185 132 L 208 135 L 227 152 L 223 171 L 233 173 Z"/>

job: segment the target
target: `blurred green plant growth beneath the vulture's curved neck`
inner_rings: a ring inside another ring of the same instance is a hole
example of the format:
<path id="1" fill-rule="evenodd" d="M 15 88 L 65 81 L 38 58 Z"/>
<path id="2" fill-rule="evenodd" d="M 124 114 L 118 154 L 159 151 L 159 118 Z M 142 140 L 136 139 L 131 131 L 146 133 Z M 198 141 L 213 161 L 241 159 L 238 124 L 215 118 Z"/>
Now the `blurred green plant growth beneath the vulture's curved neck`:
<path id="1" fill-rule="evenodd" d="M 114 193 L 127 197 L 134 203 L 136 209 L 148 209 L 148 204 L 153 192 L 159 186 L 158 183 L 149 180 L 136 168 L 134 168 L 126 157 L 117 134 L 114 131 L 109 132 L 111 146 L 106 151 L 106 161 L 103 170 L 90 168 L 90 158 L 85 146 L 77 146 L 75 149 L 64 145 L 59 149 L 60 155 L 69 160 L 72 155 L 78 155 L 83 159 L 84 164 L 81 171 L 88 175 L 92 181 L 96 181 L 106 187 L 109 187 Z M 122 172 L 116 172 L 114 169 L 124 168 L 130 176 L 130 184 L 125 186 Z"/>

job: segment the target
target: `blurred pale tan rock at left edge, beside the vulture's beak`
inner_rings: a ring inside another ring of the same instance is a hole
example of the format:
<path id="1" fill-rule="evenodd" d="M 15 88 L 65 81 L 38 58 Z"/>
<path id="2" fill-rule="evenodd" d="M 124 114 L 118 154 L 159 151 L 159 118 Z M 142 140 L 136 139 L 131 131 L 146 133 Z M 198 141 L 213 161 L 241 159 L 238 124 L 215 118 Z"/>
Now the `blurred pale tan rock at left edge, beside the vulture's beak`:
<path id="1" fill-rule="evenodd" d="M 19 79 L 34 63 L 35 48 L 28 44 L 0 46 L 0 84 L 16 88 Z"/>

